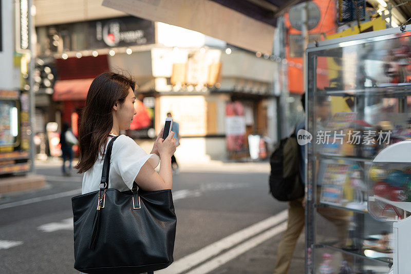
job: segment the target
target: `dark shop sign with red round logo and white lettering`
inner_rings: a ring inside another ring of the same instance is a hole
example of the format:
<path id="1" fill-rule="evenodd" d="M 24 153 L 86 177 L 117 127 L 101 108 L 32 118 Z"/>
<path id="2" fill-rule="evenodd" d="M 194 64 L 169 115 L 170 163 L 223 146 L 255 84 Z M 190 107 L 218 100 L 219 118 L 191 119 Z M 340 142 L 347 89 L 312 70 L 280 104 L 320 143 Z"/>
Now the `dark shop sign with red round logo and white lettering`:
<path id="1" fill-rule="evenodd" d="M 154 23 L 137 17 L 91 21 L 89 48 L 154 44 Z"/>

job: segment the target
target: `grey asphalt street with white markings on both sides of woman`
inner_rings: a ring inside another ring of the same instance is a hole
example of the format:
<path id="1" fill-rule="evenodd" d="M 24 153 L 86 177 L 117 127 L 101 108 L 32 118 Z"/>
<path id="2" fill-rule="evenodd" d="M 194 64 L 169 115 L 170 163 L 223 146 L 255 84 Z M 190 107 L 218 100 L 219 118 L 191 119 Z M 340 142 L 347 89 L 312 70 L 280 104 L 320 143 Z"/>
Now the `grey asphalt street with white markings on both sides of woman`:
<path id="1" fill-rule="evenodd" d="M 175 262 L 156 273 L 272 273 L 287 204 L 268 194 L 268 163 L 184 164 L 173 174 Z M 0 273 L 78 273 L 71 197 L 82 177 L 36 163 L 43 189 L 0 196 Z M 304 273 L 304 234 L 289 273 Z"/>

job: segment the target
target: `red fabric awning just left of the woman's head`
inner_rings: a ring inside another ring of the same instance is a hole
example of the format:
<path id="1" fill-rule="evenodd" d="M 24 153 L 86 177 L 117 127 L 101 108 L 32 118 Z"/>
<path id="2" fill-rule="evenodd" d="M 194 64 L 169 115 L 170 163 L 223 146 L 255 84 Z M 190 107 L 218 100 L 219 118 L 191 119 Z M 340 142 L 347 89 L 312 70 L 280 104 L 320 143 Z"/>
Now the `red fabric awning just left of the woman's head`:
<path id="1" fill-rule="evenodd" d="M 94 79 L 59 80 L 54 84 L 54 101 L 86 100 L 88 89 Z"/>

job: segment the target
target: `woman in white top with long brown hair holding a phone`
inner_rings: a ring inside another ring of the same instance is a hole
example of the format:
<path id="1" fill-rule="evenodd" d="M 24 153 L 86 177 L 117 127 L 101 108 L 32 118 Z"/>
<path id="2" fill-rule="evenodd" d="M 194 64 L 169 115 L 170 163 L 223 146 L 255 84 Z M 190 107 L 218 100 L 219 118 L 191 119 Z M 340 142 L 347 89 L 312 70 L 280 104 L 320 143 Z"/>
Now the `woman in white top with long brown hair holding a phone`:
<path id="1" fill-rule="evenodd" d="M 108 188 L 129 191 L 133 189 L 134 182 L 147 191 L 172 188 L 171 156 L 176 151 L 174 133 L 163 140 L 161 130 L 151 154 L 147 154 L 133 139 L 120 135 L 121 130 L 130 127 L 136 114 L 134 89 L 135 82 L 130 76 L 113 72 L 100 74 L 90 85 L 80 124 L 80 158 L 76 166 L 79 173 L 84 173 L 82 194 L 100 189 L 105 151 L 115 136 L 118 138 L 111 151 Z M 160 160 L 157 173 L 155 168 Z"/>

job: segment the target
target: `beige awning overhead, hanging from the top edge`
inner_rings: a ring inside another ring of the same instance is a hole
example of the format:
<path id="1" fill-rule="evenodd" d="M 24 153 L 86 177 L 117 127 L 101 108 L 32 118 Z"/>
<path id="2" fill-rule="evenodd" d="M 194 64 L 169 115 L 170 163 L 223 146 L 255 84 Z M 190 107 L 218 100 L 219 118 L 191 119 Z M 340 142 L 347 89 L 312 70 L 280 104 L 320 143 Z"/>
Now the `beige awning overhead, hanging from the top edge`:
<path id="1" fill-rule="evenodd" d="M 302 0 L 104 0 L 103 6 L 271 54 L 276 17 Z"/>

